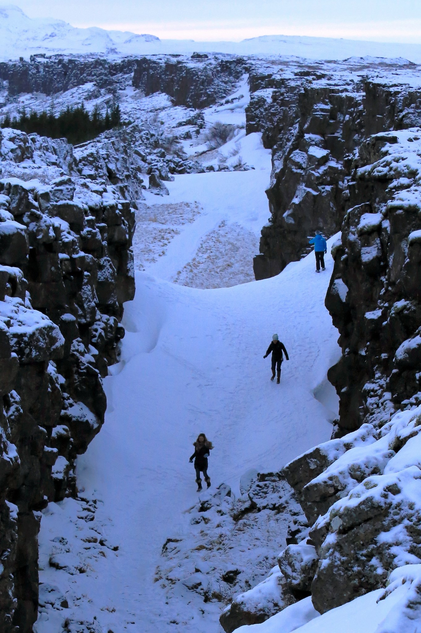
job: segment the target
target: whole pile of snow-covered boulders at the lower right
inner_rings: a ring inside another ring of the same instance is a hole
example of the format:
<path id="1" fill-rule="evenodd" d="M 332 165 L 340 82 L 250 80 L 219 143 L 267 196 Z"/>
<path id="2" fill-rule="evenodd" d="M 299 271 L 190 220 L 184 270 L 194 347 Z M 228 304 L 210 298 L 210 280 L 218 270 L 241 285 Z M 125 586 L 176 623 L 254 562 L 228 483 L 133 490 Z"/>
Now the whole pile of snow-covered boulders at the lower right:
<path id="1" fill-rule="evenodd" d="M 384 598 L 394 579 L 413 587 L 394 621 L 420 609 L 420 430 L 418 406 L 381 429 L 365 424 L 320 444 L 284 468 L 310 530 L 303 526 L 280 553 L 279 569 L 234 598 L 221 617 L 225 630 L 263 622 L 310 595 L 319 613 L 392 583 Z"/>

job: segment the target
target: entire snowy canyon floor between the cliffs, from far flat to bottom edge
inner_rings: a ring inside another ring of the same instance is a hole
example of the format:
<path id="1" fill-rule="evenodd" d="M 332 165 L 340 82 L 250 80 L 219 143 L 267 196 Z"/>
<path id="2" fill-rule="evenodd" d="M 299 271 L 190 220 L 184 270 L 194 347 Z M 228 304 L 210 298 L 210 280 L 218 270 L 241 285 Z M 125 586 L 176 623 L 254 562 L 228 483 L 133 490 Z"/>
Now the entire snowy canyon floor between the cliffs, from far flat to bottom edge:
<path id="1" fill-rule="evenodd" d="M 258 168 L 182 175 L 168 183 L 169 197 L 146 196 L 148 213 L 156 211 L 151 217 L 176 224 L 178 233 L 136 273 L 136 296 L 123 318 L 122 360 L 104 381 L 106 425 L 79 458 L 84 501 L 44 511 L 37 633 L 56 633 L 63 622 L 72 633 L 222 630 L 223 604 L 198 599 L 182 579 L 171 592 L 153 582 L 168 537 L 184 539 L 187 552 L 190 539 L 189 564 L 204 567 L 198 530 L 185 513 L 198 501 L 188 463 L 192 441 L 208 434 L 215 444 L 211 490 L 225 482 L 238 497 L 244 472 L 279 470 L 330 437 L 335 411 L 325 375 L 339 356 L 324 307 L 332 260 L 323 275 L 315 275 L 311 254 L 278 277 L 234 285 L 249 279 L 252 240 L 244 240 L 244 264 L 234 276 L 211 258 L 212 236 L 229 263 L 237 257 L 237 234 L 257 241 L 267 220 L 270 156 L 258 135 L 251 137 Z M 168 212 L 180 209 L 175 223 Z M 232 287 L 200 289 L 212 285 Z M 270 361 L 263 361 L 273 332 L 291 355 L 280 385 L 268 380 Z M 272 558 L 284 545 L 281 527 L 276 535 L 259 530 L 259 548 L 272 541 Z M 224 560 L 250 566 L 261 555 L 255 545 L 247 535 L 228 542 Z"/>

